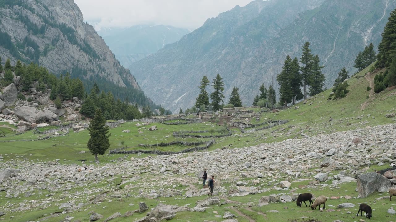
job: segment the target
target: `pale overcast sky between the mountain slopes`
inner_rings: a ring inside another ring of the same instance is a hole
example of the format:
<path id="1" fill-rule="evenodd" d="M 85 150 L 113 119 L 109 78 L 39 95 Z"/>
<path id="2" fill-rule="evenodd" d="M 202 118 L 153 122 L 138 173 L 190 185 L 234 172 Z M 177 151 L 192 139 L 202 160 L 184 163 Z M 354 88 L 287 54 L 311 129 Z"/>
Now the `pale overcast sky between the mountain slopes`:
<path id="1" fill-rule="evenodd" d="M 84 20 L 95 26 L 127 27 L 135 24 L 165 24 L 191 30 L 206 19 L 252 0 L 74 0 Z"/>

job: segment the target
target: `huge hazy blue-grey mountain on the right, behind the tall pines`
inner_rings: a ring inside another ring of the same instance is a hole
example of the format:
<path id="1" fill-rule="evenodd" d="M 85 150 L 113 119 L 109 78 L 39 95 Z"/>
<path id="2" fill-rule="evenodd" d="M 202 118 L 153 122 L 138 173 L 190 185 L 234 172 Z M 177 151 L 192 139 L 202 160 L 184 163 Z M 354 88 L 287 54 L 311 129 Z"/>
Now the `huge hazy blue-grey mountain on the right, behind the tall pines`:
<path id="1" fill-rule="evenodd" d="M 202 76 L 212 80 L 217 73 L 224 79 L 225 102 L 239 87 L 242 103 L 250 105 L 261 83 L 268 88 L 280 73 L 286 55 L 300 58 L 310 41 L 330 87 L 343 66 L 353 73 L 366 44 L 379 43 L 394 8 L 389 0 L 255 0 L 208 19 L 129 70 L 154 102 L 171 111 L 192 107 Z"/>

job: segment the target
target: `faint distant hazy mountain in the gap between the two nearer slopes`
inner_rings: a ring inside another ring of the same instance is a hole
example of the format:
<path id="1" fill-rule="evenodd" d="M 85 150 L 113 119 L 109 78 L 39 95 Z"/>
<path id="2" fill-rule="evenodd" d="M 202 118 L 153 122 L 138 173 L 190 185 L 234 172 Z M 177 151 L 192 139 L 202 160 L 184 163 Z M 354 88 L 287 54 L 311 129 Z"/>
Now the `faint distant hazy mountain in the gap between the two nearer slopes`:
<path id="1" fill-rule="evenodd" d="M 97 31 L 109 45 L 121 64 L 133 62 L 156 53 L 165 45 L 179 41 L 191 31 L 165 25 L 135 25 L 129 28 L 107 28 Z"/>

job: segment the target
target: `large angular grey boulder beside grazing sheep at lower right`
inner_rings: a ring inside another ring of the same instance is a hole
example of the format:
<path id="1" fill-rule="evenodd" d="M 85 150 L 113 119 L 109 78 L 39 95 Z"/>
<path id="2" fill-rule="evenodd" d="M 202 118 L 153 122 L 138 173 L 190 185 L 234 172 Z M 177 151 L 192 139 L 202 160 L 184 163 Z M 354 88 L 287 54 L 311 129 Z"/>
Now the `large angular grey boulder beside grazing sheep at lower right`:
<path id="1" fill-rule="evenodd" d="M 358 192 L 360 198 L 366 198 L 373 192 L 388 192 L 392 186 L 390 181 L 383 175 L 375 172 L 358 175 Z"/>

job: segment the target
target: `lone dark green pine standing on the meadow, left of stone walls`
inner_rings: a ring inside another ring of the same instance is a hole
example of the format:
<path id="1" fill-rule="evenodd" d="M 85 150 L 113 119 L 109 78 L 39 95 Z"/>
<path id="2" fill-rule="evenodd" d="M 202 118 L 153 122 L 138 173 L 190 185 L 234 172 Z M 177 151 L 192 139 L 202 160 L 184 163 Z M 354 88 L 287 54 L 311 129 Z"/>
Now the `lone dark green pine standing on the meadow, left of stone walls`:
<path id="1" fill-rule="evenodd" d="M 95 155 L 95 161 L 98 162 L 98 154 L 103 155 L 109 149 L 110 142 L 109 126 L 106 126 L 106 120 L 102 115 L 102 111 L 97 109 L 95 117 L 88 126 L 89 135 L 87 147 L 92 154 Z"/>

